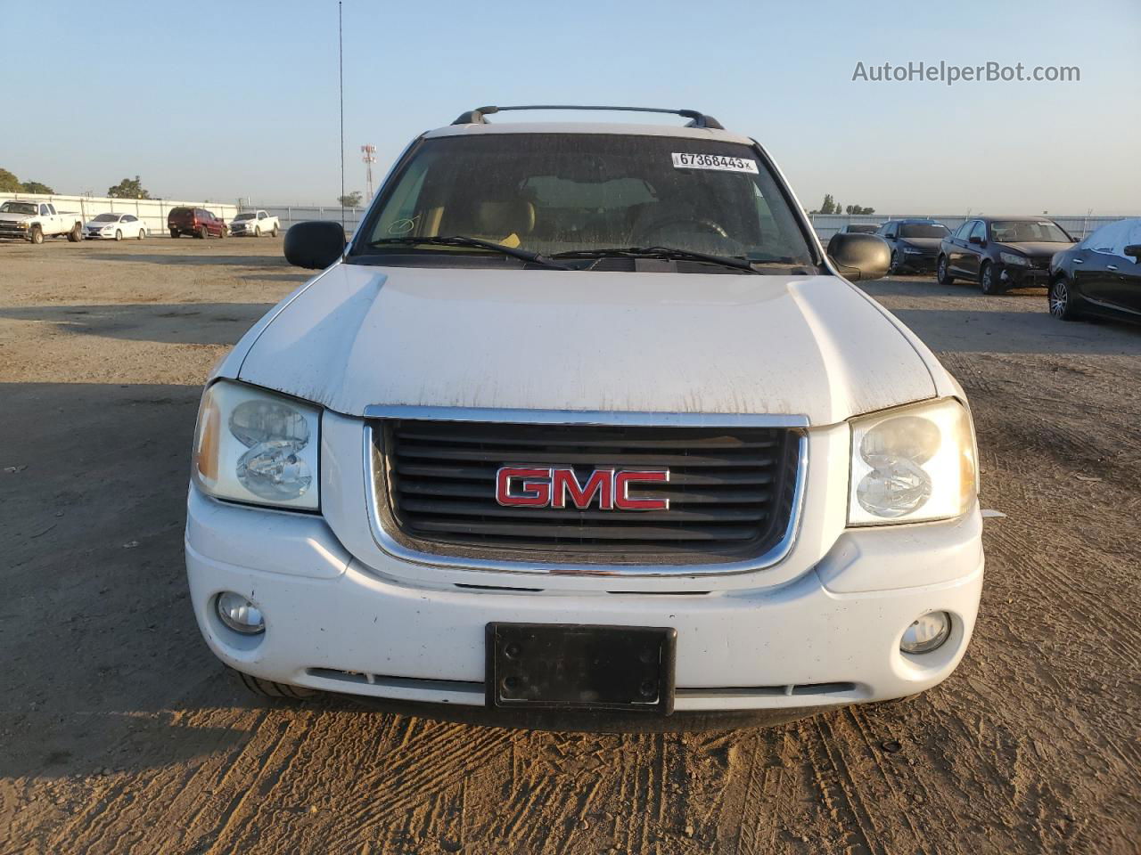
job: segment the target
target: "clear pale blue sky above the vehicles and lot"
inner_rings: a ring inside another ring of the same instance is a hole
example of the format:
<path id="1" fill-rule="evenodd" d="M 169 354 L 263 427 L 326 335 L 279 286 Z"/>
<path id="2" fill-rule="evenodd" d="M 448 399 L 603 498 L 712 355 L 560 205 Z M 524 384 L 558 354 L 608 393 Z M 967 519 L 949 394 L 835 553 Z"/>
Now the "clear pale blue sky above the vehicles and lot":
<path id="1" fill-rule="evenodd" d="M 335 0 L 0 11 L 0 168 L 22 180 L 103 195 L 139 174 L 156 197 L 335 204 Z M 348 190 L 365 189 L 361 145 L 379 184 L 472 107 L 618 104 L 755 138 L 806 207 L 828 193 L 880 213 L 1141 214 L 1139 0 L 345 0 L 343 21 Z M 920 62 L 1081 80 L 853 80 L 859 63 L 871 78 Z"/>

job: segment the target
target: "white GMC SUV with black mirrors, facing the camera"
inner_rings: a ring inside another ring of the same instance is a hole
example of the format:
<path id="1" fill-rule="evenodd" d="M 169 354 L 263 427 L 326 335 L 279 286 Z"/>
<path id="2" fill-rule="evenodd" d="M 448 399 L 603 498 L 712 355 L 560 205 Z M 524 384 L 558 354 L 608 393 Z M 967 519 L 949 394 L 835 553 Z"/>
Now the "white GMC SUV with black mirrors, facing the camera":
<path id="1" fill-rule="evenodd" d="M 945 679 L 982 585 L 963 390 L 752 139 L 415 139 L 216 368 L 186 562 L 211 650 L 316 690 L 583 728 L 785 720 Z M 722 715 L 723 714 L 723 715 Z"/>

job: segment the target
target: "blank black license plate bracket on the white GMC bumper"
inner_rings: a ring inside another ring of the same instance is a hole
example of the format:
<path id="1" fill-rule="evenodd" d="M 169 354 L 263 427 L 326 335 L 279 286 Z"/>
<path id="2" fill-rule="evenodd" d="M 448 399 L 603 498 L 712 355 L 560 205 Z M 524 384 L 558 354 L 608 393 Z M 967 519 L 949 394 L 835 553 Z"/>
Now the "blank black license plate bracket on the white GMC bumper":
<path id="1" fill-rule="evenodd" d="M 673 712 L 672 627 L 493 622 L 486 638 L 488 707 Z"/>

